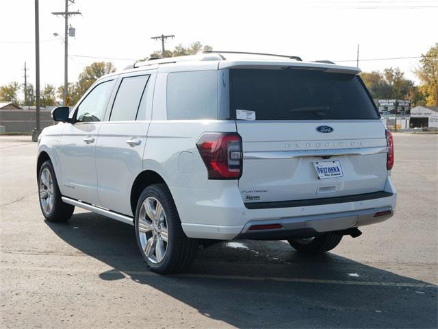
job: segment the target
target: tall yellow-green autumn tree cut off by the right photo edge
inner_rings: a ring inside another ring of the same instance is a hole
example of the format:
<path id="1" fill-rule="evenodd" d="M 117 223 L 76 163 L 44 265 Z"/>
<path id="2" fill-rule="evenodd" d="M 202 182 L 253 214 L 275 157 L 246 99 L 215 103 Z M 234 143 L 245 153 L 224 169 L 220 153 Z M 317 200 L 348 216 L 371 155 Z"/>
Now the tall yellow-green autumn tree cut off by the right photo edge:
<path id="1" fill-rule="evenodd" d="M 420 69 L 415 70 L 422 82 L 420 92 L 426 99 L 427 106 L 438 106 L 438 43 L 422 55 Z"/>

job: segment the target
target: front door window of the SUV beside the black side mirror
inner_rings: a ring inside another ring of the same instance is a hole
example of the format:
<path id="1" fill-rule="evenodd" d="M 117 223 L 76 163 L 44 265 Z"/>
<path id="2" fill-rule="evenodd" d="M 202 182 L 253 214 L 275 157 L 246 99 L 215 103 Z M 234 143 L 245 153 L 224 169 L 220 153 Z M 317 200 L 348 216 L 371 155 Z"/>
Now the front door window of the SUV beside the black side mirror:
<path id="1" fill-rule="evenodd" d="M 114 80 L 105 81 L 95 86 L 79 104 L 76 113 L 76 121 L 101 121 L 105 114 L 105 108 L 113 86 Z"/>

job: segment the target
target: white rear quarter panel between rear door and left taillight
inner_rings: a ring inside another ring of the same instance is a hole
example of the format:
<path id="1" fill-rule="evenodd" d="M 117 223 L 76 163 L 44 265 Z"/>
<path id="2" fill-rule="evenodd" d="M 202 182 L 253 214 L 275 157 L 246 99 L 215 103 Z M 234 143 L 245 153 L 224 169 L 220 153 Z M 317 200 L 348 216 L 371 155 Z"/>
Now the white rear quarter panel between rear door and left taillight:
<path id="1" fill-rule="evenodd" d="M 207 179 L 207 169 L 196 148 L 204 132 L 235 131 L 234 121 L 151 121 L 143 170 L 156 171 L 168 184 L 182 223 L 208 222 L 208 215 L 197 212 L 197 207 L 230 197 L 227 188 L 238 191 L 237 180 Z"/>

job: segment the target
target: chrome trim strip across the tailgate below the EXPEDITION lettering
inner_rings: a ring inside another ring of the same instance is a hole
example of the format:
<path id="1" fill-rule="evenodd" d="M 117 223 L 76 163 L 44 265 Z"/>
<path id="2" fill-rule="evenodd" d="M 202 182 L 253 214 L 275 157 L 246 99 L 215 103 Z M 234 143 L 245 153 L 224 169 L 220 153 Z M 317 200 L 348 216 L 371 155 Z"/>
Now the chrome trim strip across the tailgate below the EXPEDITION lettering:
<path id="1" fill-rule="evenodd" d="M 355 149 L 303 149 L 296 151 L 249 151 L 244 152 L 246 160 L 292 159 L 318 156 L 370 156 L 386 154 L 389 147 L 358 147 Z"/>

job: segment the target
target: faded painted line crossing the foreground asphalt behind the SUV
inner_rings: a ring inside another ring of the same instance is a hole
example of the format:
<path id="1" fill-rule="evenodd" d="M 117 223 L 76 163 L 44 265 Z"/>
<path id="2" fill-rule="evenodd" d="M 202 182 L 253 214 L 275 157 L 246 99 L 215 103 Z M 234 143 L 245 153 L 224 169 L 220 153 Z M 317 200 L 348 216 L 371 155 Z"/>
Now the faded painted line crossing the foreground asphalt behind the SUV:
<path id="1" fill-rule="evenodd" d="M 53 272 L 67 272 L 67 273 L 96 273 L 87 269 L 68 269 L 65 267 L 20 267 L 20 266 L 1 266 L 2 270 L 28 270 L 28 271 L 53 271 Z M 119 271 L 118 269 L 110 269 L 103 271 L 105 275 L 124 274 L 125 276 L 155 276 L 160 277 L 159 274 L 151 271 Z M 101 274 L 101 273 L 99 273 Z M 430 283 L 414 283 L 414 282 L 374 282 L 374 281 L 359 281 L 359 280 L 328 280 L 328 279 L 309 279 L 309 278 L 281 278 L 274 276 L 226 276 L 218 274 L 196 274 L 196 273 L 182 273 L 170 276 L 163 276 L 164 278 L 189 278 L 189 279 L 210 279 L 210 280 L 246 280 L 246 281 L 274 281 L 274 282 L 290 282 L 290 283 L 313 283 L 313 284 L 344 284 L 352 286 L 374 286 L 374 287 L 404 287 L 404 288 L 433 288 L 438 289 L 438 286 Z"/>

